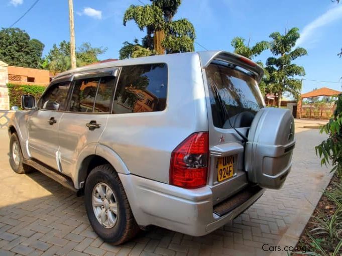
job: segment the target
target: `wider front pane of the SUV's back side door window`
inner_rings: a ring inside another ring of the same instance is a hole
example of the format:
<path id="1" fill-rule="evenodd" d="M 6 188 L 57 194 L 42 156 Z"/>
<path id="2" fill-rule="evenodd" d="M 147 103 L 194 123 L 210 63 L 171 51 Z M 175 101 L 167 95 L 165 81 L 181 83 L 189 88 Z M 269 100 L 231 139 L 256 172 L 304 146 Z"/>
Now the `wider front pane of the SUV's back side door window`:
<path id="1" fill-rule="evenodd" d="M 75 81 L 72 91 L 71 112 L 92 112 L 99 78 L 79 79 Z"/>

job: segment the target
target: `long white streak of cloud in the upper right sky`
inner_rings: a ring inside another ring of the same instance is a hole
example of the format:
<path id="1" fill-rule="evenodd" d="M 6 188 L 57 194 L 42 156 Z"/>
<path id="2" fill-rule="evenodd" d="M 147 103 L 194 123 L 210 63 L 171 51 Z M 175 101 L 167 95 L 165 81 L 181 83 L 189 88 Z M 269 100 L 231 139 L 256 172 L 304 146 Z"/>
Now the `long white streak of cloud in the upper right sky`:
<path id="1" fill-rule="evenodd" d="M 331 8 L 324 14 L 319 16 L 317 19 L 310 22 L 304 27 L 300 33 L 300 38 L 298 39 L 296 46 L 303 45 L 308 40 L 311 41 L 312 36 L 316 35 L 316 30 L 324 27 L 330 23 L 337 21 L 342 18 L 342 5 L 338 5 L 335 8 Z M 317 38 L 314 38 L 315 40 Z"/>

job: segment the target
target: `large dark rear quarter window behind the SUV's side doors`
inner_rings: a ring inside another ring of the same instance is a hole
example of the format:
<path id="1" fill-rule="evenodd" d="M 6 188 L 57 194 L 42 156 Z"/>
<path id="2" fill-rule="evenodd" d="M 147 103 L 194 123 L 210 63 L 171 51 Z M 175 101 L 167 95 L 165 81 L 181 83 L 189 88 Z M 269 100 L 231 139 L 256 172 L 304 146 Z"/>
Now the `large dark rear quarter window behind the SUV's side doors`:
<path id="1" fill-rule="evenodd" d="M 125 66 L 114 98 L 113 113 L 162 111 L 166 105 L 167 66 Z"/>

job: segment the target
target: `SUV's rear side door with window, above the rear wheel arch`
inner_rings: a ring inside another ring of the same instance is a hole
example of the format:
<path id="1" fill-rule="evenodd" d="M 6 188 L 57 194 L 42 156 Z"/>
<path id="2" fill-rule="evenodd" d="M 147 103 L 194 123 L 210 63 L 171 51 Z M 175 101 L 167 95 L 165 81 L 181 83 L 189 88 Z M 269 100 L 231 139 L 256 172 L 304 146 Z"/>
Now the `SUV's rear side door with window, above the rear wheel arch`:
<path id="1" fill-rule="evenodd" d="M 70 102 L 58 135 L 61 169 L 68 176 L 75 174 L 82 151 L 95 154 L 111 111 L 117 72 L 114 68 L 74 76 Z"/>

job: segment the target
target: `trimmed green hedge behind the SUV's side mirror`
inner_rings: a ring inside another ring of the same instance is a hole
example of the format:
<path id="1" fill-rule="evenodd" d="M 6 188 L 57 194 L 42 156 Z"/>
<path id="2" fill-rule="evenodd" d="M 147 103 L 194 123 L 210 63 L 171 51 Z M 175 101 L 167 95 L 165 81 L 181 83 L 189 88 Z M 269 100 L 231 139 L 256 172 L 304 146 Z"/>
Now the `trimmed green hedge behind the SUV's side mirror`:
<path id="1" fill-rule="evenodd" d="M 33 95 L 38 100 L 46 88 L 40 85 L 19 85 L 11 83 L 8 83 L 7 87 L 9 88 L 10 107 L 21 107 L 20 99 L 23 94 Z"/>

